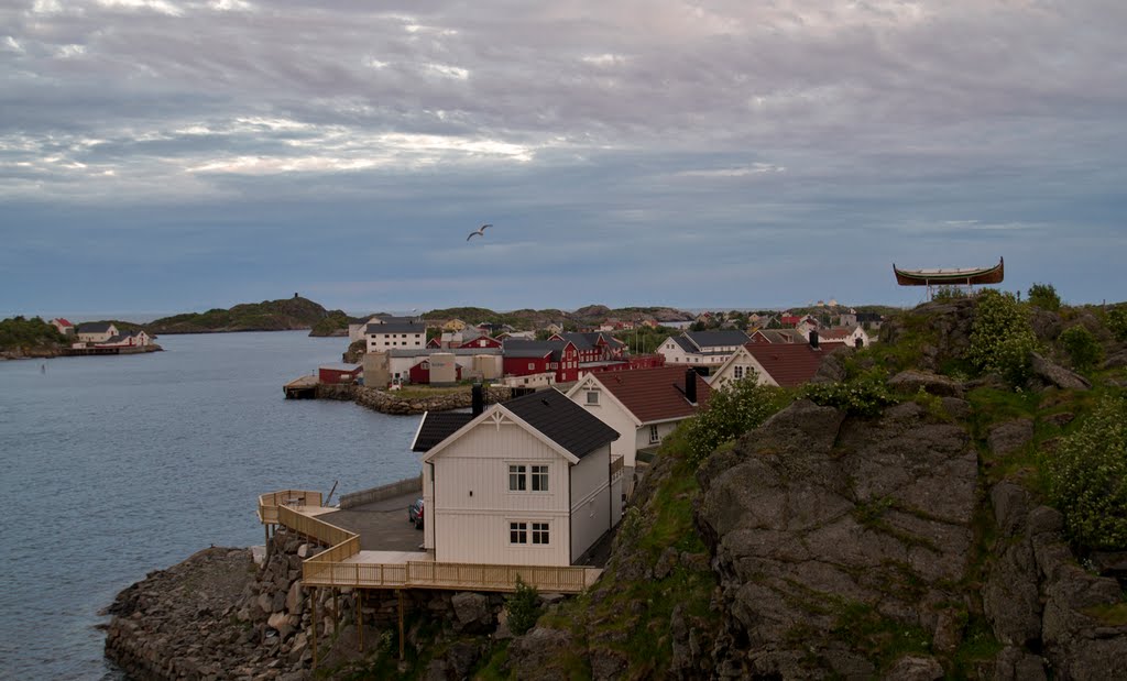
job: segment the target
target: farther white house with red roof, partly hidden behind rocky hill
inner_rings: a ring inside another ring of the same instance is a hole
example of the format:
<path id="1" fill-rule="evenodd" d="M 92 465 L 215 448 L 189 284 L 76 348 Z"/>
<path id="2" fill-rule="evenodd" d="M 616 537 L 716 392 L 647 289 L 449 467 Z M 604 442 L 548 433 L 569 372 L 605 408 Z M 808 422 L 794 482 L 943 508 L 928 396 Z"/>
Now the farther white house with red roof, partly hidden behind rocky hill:
<path id="1" fill-rule="evenodd" d="M 761 386 L 793 388 L 813 379 L 826 355 L 844 346 L 820 343 L 817 331 L 809 343 L 747 343 L 709 378 L 709 384 L 716 390 L 754 375 Z"/>

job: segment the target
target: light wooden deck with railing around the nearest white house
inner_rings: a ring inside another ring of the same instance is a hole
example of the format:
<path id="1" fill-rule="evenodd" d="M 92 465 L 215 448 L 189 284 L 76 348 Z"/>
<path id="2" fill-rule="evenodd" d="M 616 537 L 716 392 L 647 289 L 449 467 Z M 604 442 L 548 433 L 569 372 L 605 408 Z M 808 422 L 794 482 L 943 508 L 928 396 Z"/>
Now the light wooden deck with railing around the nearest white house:
<path id="1" fill-rule="evenodd" d="M 321 505 L 319 492 L 283 489 L 258 497 L 263 524 L 283 525 L 329 545 L 302 563 L 305 586 L 513 592 L 520 578 L 542 592 L 578 593 L 603 572 L 583 566 L 436 563 L 427 552 L 362 551 L 358 534 L 318 518 L 331 511 Z"/>

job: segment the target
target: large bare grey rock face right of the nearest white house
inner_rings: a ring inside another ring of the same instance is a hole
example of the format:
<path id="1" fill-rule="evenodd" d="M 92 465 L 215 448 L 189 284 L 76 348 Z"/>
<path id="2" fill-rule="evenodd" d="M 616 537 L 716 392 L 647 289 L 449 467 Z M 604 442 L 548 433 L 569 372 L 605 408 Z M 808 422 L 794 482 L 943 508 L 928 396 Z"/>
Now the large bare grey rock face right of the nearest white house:
<path id="1" fill-rule="evenodd" d="M 699 478 L 740 675 L 941 673 L 925 655 L 879 669 L 846 633 L 862 620 L 957 645 L 943 613 L 961 598 L 977 484 L 962 428 L 914 403 L 867 422 L 799 401 Z"/>

